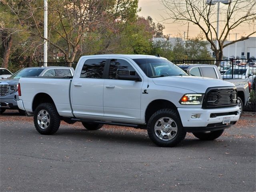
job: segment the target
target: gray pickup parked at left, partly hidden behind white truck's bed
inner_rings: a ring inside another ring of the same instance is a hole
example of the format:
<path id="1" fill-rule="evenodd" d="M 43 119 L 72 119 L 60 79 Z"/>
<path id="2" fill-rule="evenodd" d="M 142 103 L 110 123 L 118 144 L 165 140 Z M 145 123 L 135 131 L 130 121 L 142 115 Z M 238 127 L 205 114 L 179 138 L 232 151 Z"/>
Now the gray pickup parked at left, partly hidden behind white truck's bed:
<path id="1" fill-rule="evenodd" d="M 74 69 L 71 67 L 29 67 L 18 70 L 6 80 L 0 80 L 0 114 L 6 109 L 18 109 L 20 114 L 25 112 L 17 105 L 18 82 L 21 77 L 44 76 L 44 77 L 65 77 L 73 76 Z"/>

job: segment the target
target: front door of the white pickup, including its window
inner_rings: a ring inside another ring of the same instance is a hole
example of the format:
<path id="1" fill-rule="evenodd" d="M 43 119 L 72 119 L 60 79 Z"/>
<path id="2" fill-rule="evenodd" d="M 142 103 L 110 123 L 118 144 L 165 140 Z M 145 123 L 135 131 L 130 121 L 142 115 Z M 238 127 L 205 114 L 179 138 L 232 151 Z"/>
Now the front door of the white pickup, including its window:
<path id="1" fill-rule="evenodd" d="M 104 82 L 104 118 L 124 122 L 140 122 L 140 99 L 143 82 L 119 80 L 117 70 L 136 72 L 128 60 L 111 58 Z"/>

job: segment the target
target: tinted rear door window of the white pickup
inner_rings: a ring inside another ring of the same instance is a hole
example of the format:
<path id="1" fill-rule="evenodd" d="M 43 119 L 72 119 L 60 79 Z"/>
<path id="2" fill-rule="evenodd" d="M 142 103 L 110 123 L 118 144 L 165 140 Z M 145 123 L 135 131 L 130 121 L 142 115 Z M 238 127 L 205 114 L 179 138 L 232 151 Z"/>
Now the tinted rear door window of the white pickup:
<path id="1" fill-rule="evenodd" d="M 80 77 L 101 79 L 106 59 L 88 59 L 84 63 Z"/>

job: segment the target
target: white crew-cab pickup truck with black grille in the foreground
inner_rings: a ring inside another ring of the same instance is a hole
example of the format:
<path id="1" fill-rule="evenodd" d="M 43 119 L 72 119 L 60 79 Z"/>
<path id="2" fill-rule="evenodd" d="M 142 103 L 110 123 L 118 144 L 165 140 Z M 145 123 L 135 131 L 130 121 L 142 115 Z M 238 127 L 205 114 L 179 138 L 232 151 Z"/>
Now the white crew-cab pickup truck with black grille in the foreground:
<path id="1" fill-rule="evenodd" d="M 60 120 L 88 130 L 130 126 L 169 147 L 186 132 L 214 140 L 239 119 L 234 84 L 188 76 L 160 56 L 82 56 L 73 78 L 20 78 L 18 93 L 40 134 L 54 134 Z"/>

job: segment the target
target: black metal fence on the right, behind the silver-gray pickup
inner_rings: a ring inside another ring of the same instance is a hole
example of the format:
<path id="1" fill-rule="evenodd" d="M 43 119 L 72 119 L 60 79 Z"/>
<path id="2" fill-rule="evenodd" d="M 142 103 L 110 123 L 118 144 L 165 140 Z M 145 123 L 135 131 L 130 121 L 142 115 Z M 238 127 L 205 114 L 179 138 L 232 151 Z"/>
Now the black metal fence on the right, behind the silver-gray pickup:
<path id="1" fill-rule="evenodd" d="M 256 75 L 256 59 L 230 60 L 174 60 L 175 64 L 210 64 L 217 65 L 224 79 L 246 79 Z"/>

